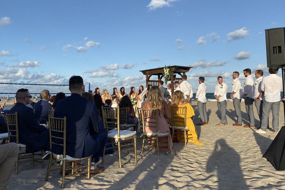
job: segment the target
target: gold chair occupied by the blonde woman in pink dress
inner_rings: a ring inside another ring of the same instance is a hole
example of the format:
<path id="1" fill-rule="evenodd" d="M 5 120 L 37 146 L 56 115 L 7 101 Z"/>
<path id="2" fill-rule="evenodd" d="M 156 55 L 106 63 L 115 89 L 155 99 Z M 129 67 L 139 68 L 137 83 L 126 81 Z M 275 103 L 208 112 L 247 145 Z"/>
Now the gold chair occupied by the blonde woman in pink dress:
<path id="1" fill-rule="evenodd" d="M 158 110 L 157 109 L 141 109 L 142 110 L 142 120 L 143 120 L 143 148 L 145 146 L 145 141 L 154 141 L 154 149 L 157 149 L 157 155 L 159 156 L 159 147 L 168 148 L 170 150 L 170 133 L 160 133 L 157 126 Z M 150 129 L 152 132 L 146 132 L 145 128 Z M 159 137 L 167 137 L 167 141 L 159 141 Z M 167 143 L 167 145 L 159 146 L 159 143 Z"/>

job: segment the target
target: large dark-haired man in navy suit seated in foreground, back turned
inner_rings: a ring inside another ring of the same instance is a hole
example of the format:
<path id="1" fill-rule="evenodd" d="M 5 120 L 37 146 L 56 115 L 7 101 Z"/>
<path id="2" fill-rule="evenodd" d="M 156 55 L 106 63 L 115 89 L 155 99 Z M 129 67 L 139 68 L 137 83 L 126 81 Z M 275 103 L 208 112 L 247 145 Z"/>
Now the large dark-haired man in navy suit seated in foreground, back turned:
<path id="1" fill-rule="evenodd" d="M 56 103 L 54 117 L 66 117 L 66 155 L 73 158 L 86 158 L 91 155 L 91 173 L 104 171 L 104 167 L 97 167 L 104 150 L 107 131 L 99 128 L 98 110 L 93 101 L 83 98 L 83 79 L 72 76 L 69 79 L 68 96 Z M 55 140 L 56 142 L 56 140 Z M 62 154 L 62 146 L 52 145 L 51 151 Z"/>

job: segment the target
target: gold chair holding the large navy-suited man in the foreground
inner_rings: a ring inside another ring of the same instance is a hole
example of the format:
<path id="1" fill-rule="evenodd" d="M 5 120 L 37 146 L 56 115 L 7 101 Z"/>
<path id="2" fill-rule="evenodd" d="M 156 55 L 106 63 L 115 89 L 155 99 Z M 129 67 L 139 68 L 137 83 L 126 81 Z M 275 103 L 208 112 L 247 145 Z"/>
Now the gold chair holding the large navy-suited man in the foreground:
<path id="1" fill-rule="evenodd" d="M 50 136 L 50 148 L 52 148 L 52 145 L 58 145 L 63 147 L 63 153 L 62 155 L 58 155 L 55 153 L 52 153 L 51 151 L 47 151 L 47 154 L 50 155 L 50 160 L 47 168 L 47 175 L 45 177 L 45 181 L 48 181 L 48 176 L 50 175 L 51 171 L 56 170 L 62 170 L 62 182 L 61 182 L 61 188 L 64 188 L 64 180 L 66 177 L 78 175 L 78 174 L 84 174 L 87 173 L 87 179 L 90 179 L 90 168 L 91 168 L 91 157 L 76 159 L 72 158 L 68 155 L 66 155 L 66 117 L 64 118 L 54 118 L 54 117 L 48 117 L 48 126 L 49 126 L 49 136 Z M 47 155 L 46 154 L 46 155 Z M 45 156 L 46 156 L 45 155 Z M 55 160 L 55 162 L 53 162 Z M 87 165 L 80 164 L 78 161 L 82 160 L 88 160 Z M 60 162 L 60 163 L 58 163 Z M 71 166 L 66 166 L 66 163 L 72 162 Z M 75 162 L 77 167 L 75 167 Z M 52 166 L 59 166 L 59 168 L 51 170 Z M 87 171 L 77 171 L 77 168 L 85 168 L 87 167 Z M 71 170 L 70 175 L 65 175 L 66 170 Z"/>

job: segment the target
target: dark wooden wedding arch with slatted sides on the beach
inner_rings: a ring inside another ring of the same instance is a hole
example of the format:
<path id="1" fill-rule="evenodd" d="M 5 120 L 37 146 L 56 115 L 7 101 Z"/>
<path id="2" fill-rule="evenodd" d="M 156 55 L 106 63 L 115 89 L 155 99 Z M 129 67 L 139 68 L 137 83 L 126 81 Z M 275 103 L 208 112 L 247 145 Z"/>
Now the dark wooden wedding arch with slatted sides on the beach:
<path id="1" fill-rule="evenodd" d="M 171 71 L 171 92 L 173 94 L 174 92 L 174 82 L 178 81 L 179 83 L 182 82 L 182 75 L 185 75 L 186 72 L 188 72 L 191 68 L 191 66 L 178 66 L 178 65 L 174 65 L 174 66 L 168 66 L 170 71 Z M 159 68 L 155 68 L 155 69 L 147 69 L 147 70 L 141 70 L 140 72 L 142 72 L 145 75 L 145 82 L 146 82 L 146 86 L 151 84 L 152 86 L 158 86 L 158 82 L 162 79 L 163 77 L 163 69 L 164 67 L 159 67 Z M 175 74 L 180 75 L 180 77 L 177 77 Z M 157 80 L 150 80 L 151 76 L 153 75 L 157 75 Z"/>

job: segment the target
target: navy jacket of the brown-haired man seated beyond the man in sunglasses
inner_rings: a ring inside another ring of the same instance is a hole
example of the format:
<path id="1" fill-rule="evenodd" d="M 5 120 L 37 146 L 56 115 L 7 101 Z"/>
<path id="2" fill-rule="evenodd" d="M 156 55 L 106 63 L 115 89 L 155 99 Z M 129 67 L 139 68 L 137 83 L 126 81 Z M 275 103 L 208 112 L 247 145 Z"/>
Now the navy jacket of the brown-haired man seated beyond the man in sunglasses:
<path id="1" fill-rule="evenodd" d="M 39 102 L 35 103 L 33 108 L 36 110 L 36 118 L 38 122 L 40 121 L 47 121 L 48 118 L 48 112 L 51 110 L 52 105 L 45 101 L 45 100 L 40 100 Z"/>

